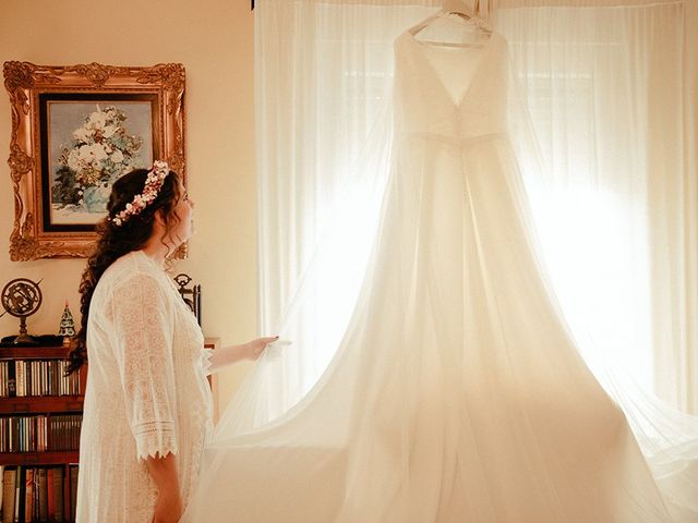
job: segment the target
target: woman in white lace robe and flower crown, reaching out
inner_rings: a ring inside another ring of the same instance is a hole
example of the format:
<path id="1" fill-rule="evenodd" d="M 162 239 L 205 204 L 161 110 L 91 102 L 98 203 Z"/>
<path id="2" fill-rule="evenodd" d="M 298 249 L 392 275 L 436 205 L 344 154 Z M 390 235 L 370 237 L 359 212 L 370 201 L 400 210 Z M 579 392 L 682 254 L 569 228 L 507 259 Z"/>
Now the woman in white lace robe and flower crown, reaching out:
<path id="1" fill-rule="evenodd" d="M 165 260 L 192 234 L 177 173 L 156 161 L 120 178 L 87 262 L 70 370 L 89 361 L 79 522 L 176 522 L 210 430 L 207 370 L 256 358 L 275 338 L 204 349 Z"/>

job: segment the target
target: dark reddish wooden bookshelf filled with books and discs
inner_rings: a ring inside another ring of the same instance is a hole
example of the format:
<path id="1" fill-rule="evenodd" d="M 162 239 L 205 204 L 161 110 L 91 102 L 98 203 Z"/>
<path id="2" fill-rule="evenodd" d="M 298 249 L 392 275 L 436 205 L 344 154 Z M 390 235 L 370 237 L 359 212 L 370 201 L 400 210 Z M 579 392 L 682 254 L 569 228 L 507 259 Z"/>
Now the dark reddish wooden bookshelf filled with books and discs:
<path id="1" fill-rule="evenodd" d="M 64 378 L 67 353 L 0 344 L 2 523 L 74 521 L 87 369 Z"/>

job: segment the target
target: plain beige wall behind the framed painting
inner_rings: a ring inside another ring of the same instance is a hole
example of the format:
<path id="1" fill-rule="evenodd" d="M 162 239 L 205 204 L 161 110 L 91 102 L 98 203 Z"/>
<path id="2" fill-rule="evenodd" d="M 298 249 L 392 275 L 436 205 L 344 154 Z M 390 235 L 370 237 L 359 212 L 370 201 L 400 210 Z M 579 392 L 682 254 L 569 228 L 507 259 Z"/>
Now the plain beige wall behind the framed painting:
<path id="1" fill-rule="evenodd" d="M 253 17 L 241 0 L 2 0 L 0 62 L 45 65 L 100 62 L 186 68 L 189 191 L 196 203 L 190 257 L 176 265 L 203 288 L 203 327 L 224 343 L 255 332 L 256 195 L 254 177 Z M 0 93 L 0 157 L 11 131 L 7 92 Z M 9 168 L 0 163 L 0 285 L 44 278 L 44 304 L 31 333 L 58 331 L 63 302 L 79 319 L 77 284 L 84 259 L 10 262 L 14 204 Z M 19 323 L 0 318 L 0 335 Z M 248 367 L 219 376 L 225 404 Z"/>

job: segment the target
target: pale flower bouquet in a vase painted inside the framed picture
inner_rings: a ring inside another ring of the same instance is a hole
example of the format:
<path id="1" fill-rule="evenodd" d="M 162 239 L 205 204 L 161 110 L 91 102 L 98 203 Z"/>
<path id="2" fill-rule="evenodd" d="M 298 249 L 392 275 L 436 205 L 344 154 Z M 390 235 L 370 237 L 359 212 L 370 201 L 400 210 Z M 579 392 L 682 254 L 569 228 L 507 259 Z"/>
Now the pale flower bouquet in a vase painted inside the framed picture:
<path id="1" fill-rule="evenodd" d="M 145 165 L 139 154 L 143 138 L 129 134 L 124 111 L 94 107 L 58 156 L 51 204 L 63 215 L 105 212 L 113 182 Z"/>

